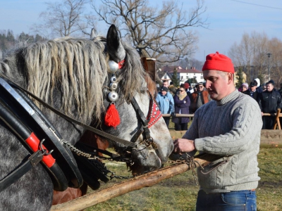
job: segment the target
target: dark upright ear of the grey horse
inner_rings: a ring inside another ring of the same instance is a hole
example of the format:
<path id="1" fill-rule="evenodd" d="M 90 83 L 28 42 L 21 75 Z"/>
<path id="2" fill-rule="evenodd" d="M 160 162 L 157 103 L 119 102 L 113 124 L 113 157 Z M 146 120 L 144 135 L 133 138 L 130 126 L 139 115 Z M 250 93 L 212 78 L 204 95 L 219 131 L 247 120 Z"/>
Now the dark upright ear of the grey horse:
<path id="1" fill-rule="evenodd" d="M 121 44 L 121 39 L 118 36 L 118 30 L 116 30 L 115 25 L 111 25 L 111 27 L 109 27 L 108 34 L 106 34 L 106 47 L 111 60 L 114 60 L 116 63 L 124 60 L 125 49 Z"/>

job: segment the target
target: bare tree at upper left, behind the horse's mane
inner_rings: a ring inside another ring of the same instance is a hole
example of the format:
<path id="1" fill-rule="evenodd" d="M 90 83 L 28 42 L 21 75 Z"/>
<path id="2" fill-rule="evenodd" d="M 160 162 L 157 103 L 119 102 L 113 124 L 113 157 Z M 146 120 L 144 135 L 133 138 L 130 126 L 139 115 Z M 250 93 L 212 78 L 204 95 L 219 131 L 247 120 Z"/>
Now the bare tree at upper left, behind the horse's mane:
<path id="1" fill-rule="evenodd" d="M 92 15 L 85 15 L 85 5 L 88 0 L 61 0 L 46 3 L 47 11 L 40 14 L 42 24 L 32 26 L 32 31 L 44 35 L 44 37 L 66 37 L 84 32 L 93 27 Z"/>

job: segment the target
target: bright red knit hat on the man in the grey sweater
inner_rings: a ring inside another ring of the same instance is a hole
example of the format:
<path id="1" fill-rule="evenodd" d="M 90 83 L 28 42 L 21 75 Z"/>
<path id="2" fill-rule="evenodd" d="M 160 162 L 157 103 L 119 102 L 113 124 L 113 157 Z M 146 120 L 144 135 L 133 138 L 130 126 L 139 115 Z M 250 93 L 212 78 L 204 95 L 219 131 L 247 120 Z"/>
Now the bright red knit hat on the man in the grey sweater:
<path id="1" fill-rule="evenodd" d="M 227 56 L 220 54 L 218 51 L 206 56 L 206 62 L 202 68 L 202 71 L 204 70 L 220 70 L 231 73 L 235 72 L 232 60 Z"/>

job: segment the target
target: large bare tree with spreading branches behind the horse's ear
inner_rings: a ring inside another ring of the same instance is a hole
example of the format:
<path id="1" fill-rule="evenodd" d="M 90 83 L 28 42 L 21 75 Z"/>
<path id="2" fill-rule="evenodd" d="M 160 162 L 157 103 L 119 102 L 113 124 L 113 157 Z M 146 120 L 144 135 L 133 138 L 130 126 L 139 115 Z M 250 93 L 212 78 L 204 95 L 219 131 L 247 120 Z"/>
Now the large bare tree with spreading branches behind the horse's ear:
<path id="1" fill-rule="evenodd" d="M 140 54 L 161 62 L 174 62 L 194 53 L 198 37 L 188 28 L 208 27 L 207 20 L 202 20 L 207 8 L 201 0 L 190 13 L 174 0 L 157 7 L 150 6 L 148 0 L 101 0 L 101 6 L 92 2 L 92 8 L 99 20 L 115 24 Z"/>

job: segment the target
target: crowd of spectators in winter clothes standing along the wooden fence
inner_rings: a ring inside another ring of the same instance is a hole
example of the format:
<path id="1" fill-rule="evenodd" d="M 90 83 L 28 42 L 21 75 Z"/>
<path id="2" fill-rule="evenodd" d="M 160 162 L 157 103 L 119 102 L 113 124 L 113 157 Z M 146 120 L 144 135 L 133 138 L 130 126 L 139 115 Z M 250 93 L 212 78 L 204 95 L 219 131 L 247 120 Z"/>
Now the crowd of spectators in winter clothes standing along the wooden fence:
<path id="1" fill-rule="evenodd" d="M 275 122 L 275 113 L 278 108 L 282 108 L 282 83 L 280 89 L 275 89 L 274 80 L 269 80 L 260 84 L 256 78 L 247 84 L 241 84 L 238 91 L 247 94 L 259 104 L 262 112 L 262 129 L 273 129 Z M 195 87 L 185 82 L 179 87 L 174 86 L 173 82 L 164 81 L 162 87 L 158 87 L 157 103 L 161 113 L 171 114 L 172 118 L 164 117 L 168 126 L 170 119 L 175 124 L 176 130 L 187 130 L 189 117 L 176 117 L 175 114 L 193 114 L 200 106 L 212 101 L 208 91 L 205 90 L 204 82 L 199 82 Z M 264 115 L 267 114 L 267 115 Z M 271 114 L 271 115 L 269 115 Z"/>

